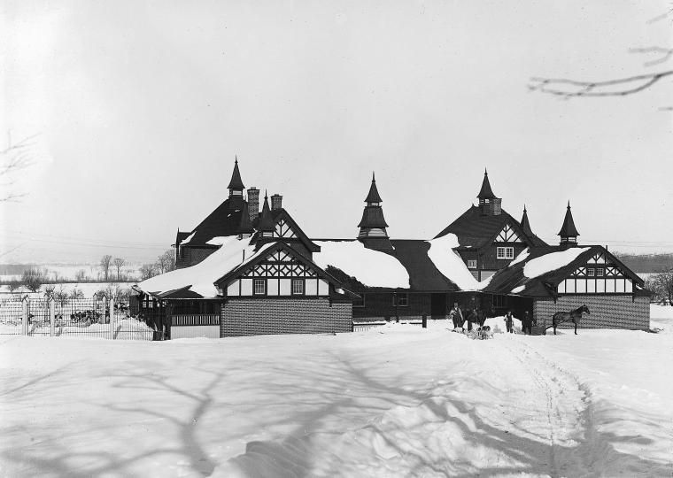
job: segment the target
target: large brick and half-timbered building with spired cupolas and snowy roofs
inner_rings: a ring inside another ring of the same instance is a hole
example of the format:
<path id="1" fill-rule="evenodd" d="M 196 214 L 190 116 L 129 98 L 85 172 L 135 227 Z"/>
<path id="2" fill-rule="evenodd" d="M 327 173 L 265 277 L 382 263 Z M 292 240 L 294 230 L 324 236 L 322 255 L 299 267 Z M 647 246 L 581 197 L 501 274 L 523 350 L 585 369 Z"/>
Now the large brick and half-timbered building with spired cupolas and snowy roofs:
<path id="1" fill-rule="evenodd" d="M 244 197 L 237 160 L 227 200 L 176 236 L 178 269 L 136 286 L 139 303 L 173 338 L 345 332 L 375 320 L 445 319 L 464 311 L 532 313 L 540 330 L 553 312 L 588 305 L 582 327 L 649 327 L 643 281 L 605 248 L 581 247 L 570 207 L 561 242 L 517 221 L 484 173 L 478 205 L 437 236 L 396 240 L 387 233 L 375 177 L 356 237 L 310 239 L 282 197 Z"/>

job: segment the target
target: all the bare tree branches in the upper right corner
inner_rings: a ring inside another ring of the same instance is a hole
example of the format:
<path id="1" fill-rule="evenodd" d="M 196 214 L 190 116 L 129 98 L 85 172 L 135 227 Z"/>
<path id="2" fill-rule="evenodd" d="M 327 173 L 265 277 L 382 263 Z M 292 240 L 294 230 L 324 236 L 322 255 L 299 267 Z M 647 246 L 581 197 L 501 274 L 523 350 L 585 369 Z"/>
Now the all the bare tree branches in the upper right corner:
<path id="1" fill-rule="evenodd" d="M 673 16 L 673 9 L 665 12 L 648 23 L 669 19 Z M 673 57 L 673 48 L 662 46 L 648 46 L 630 49 L 631 53 L 642 55 L 655 54 L 658 57 L 645 62 L 645 67 L 659 66 Z M 673 70 L 664 69 L 658 72 L 645 72 L 623 78 L 603 81 L 585 81 L 569 78 L 541 78 L 530 79 L 529 89 L 554 96 L 569 99 L 572 97 L 600 97 L 600 96 L 628 96 L 653 87 L 663 79 L 673 76 Z M 661 107 L 661 110 L 670 111 L 673 107 Z"/>

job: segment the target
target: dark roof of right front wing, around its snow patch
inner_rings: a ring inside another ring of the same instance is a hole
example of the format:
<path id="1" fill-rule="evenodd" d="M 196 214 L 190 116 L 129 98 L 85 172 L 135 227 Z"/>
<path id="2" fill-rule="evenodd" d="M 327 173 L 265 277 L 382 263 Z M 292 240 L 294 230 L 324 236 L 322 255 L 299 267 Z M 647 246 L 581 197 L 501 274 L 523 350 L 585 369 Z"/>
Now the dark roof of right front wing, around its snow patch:
<path id="1" fill-rule="evenodd" d="M 514 264 L 513 266 L 507 266 L 504 269 L 501 269 L 491 278 L 491 282 L 483 289 L 484 292 L 489 292 L 491 294 L 511 294 L 513 289 L 516 289 L 519 286 L 525 284 L 525 289 L 523 289 L 518 294 L 526 297 L 550 297 L 553 296 L 556 286 L 565 279 L 569 274 L 572 274 L 577 267 L 583 266 L 587 261 L 592 258 L 592 256 L 598 252 L 603 253 L 607 256 L 610 263 L 618 266 L 623 272 L 638 286 L 642 287 L 644 282 L 629 267 L 625 266 L 622 261 L 618 258 L 615 258 L 610 254 L 607 249 L 600 245 L 593 246 L 583 246 L 588 247 L 587 251 L 584 251 L 575 258 L 575 260 L 569 262 L 566 266 L 562 266 L 559 269 L 550 271 L 548 273 L 539 275 L 538 277 L 533 277 L 531 279 L 523 275 L 523 268 L 528 264 L 532 259 L 539 258 L 545 254 L 550 254 L 552 252 L 566 251 L 567 249 L 563 246 L 545 246 L 545 247 L 536 247 L 530 249 L 530 254 L 527 258 Z M 641 289 L 636 291 L 636 294 L 647 295 L 648 291 Z"/>

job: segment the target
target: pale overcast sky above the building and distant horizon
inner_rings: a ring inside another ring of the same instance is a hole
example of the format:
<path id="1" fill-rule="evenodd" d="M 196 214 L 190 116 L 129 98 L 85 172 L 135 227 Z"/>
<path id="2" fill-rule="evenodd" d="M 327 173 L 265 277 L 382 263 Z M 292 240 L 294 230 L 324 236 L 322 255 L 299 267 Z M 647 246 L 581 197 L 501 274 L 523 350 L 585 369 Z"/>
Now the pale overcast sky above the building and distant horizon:
<path id="1" fill-rule="evenodd" d="M 557 243 L 673 251 L 671 81 L 563 101 L 670 46 L 669 1 L 5 0 L 0 144 L 38 134 L 0 204 L 0 262 L 151 260 L 228 194 L 282 194 L 313 237 L 355 237 L 372 171 L 394 238 L 431 238 L 483 168 Z M 668 68 L 673 66 L 673 60 Z M 7 188 L 6 186 L 4 188 Z"/>

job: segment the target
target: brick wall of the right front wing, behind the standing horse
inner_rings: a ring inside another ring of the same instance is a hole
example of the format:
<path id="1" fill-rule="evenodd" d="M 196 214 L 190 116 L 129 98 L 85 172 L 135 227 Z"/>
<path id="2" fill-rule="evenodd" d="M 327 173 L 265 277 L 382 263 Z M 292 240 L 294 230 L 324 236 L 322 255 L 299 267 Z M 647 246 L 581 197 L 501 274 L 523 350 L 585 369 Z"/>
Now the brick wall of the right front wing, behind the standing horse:
<path id="1" fill-rule="evenodd" d="M 533 317 L 538 326 L 550 327 L 556 312 L 569 312 L 580 305 L 587 305 L 591 314 L 580 320 L 578 328 L 626 328 L 629 330 L 649 330 L 650 301 L 648 297 L 630 296 L 563 296 L 556 304 L 553 300 L 536 300 L 533 303 Z M 574 328 L 564 323 L 559 328 Z"/>

